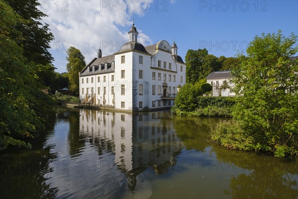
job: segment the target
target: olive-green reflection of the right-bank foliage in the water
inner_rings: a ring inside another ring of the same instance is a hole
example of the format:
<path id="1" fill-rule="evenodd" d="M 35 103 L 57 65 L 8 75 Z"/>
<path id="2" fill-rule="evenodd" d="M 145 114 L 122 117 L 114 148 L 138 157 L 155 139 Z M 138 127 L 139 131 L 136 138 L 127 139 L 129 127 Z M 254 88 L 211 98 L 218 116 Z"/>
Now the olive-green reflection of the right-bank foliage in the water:
<path id="1" fill-rule="evenodd" d="M 225 194 L 233 198 L 298 198 L 298 164 L 289 160 L 213 146 L 219 162 L 243 173 L 233 176 Z M 244 172 L 246 171 L 246 172 Z"/>

